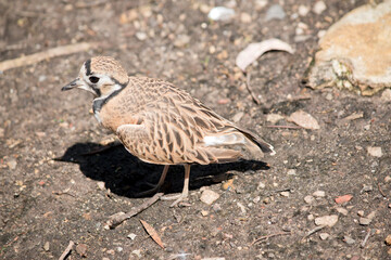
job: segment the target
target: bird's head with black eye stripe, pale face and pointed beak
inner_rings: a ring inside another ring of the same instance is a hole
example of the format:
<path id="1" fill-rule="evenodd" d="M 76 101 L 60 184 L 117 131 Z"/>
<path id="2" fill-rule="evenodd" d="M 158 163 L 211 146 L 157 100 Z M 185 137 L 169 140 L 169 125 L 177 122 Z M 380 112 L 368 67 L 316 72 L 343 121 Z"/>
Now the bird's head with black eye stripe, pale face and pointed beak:
<path id="1" fill-rule="evenodd" d="M 128 75 L 119 62 L 110 56 L 96 56 L 85 62 L 79 76 L 61 91 L 78 88 L 91 92 L 96 98 L 109 96 L 126 87 L 128 80 Z"/>

